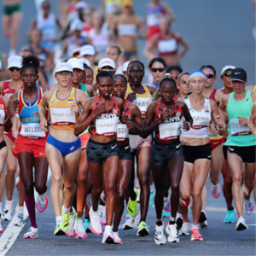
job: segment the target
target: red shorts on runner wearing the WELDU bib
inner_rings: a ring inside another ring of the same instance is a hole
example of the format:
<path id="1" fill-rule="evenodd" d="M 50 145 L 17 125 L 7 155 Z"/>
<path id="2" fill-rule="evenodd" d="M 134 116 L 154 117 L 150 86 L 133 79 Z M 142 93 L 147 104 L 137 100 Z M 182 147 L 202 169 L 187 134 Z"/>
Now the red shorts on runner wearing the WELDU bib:
<path id="1" fill-rule="evenodd" d="M 19 135 L 15 140 L 15 146 L 13 152 L 15 157 L 21 152 L 29 152 L 33 154 L 33 157 L 46 157 L 45 154 L 46 137 L 38 139 L 30 139 Z"/>

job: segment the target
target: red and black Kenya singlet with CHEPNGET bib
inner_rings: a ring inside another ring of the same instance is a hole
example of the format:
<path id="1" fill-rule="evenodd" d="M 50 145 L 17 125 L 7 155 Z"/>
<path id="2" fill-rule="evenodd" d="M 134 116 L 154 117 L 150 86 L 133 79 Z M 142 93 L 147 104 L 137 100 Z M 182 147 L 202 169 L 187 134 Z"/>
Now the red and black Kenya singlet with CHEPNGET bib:
<path id="1" fill-rule="evenodd" d="M 115 98 L 111 97 L 111 100 L 112 108 L 106 109 L 105 113 L 98 115 L 96 119 L 90 123 L 90 134 L 113 137 L 117 133 L 120 110 L 117 106 Z M 94 112 L 99 104 L 99 96 L 96 96 L 94 108 L 92 109 L 91 113 Z"/>

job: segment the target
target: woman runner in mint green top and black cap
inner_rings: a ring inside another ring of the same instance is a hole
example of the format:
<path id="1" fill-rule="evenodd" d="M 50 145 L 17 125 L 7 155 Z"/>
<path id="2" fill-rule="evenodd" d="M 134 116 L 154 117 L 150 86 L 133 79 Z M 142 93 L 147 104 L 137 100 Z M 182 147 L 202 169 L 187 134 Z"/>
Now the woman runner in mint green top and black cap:
<path id="1" fill-rule="evenodd" d="M 229 115 L 229 137 L 224 143 L 224 157 L 227 158 L 232 172 L 232 194 L 239 217 L 236 230 L 239 231 L 248 229 L 243 217 L 243 199 L 245 199 L 245 212 L 247 214 L 253 212 L 253 202 L 250 201 L 250 195 L 253 190 L 253 177 L 256 169 L 256 140 L 247 125 L 247 121 L 253 108 L 253 102 L 256 102 L 256 93 L 245 89 L 247 73 L 242 68 L 232 70 L 230 81 L 234 92 L 222 97 L 219 114 L 223 121 L 225 111 Z M 245 163 L 244 175 L 242 173 L 243 162 Z M 245 186 L 244 195 L 241 188 L 242 180 Z"/>

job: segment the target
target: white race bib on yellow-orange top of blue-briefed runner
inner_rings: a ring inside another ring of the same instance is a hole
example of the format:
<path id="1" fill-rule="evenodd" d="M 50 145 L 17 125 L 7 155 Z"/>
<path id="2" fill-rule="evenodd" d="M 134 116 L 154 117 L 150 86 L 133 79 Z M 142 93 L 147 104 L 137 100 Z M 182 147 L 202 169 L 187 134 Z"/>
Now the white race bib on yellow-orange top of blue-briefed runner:
<path id="1" fill-rule="evenodd" d="M 76 113 L 71 108 L 50 108 L 53 125 L 71 125 L 76 123 Z"/>

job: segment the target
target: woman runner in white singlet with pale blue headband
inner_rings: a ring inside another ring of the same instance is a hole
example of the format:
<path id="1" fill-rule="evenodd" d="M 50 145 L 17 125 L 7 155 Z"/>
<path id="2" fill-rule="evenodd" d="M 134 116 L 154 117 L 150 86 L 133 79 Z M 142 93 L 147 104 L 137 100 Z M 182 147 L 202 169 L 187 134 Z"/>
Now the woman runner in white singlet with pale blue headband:
<path id="1" fill-rule="evenodd" d="M 207 181 L 207 174 L 211 165 L 211 146 L 208 137 L 208 127 L 211 119 L 215 121 L 218 132 L 224 133 L 223 124 L 218 116 L 216 102 L 203 96 L 206 76 L 200 69 L 195 69 L 189 75 L 189 85 L 192 90 L 190 96 L 181 99 L 189 108 L 193 118 L 193 125 L 189 131 L 182 130 L 184 148 L 184 169 L 180 183 L 180 195 L 183 201 L 189 201 L 193 196 L 193 225 L 191 241 L 202 241 L 198 223 L 202 208 L 202 189 Z M 189 222 L 186 212 L 183 213 L 185 222 Z"/>

